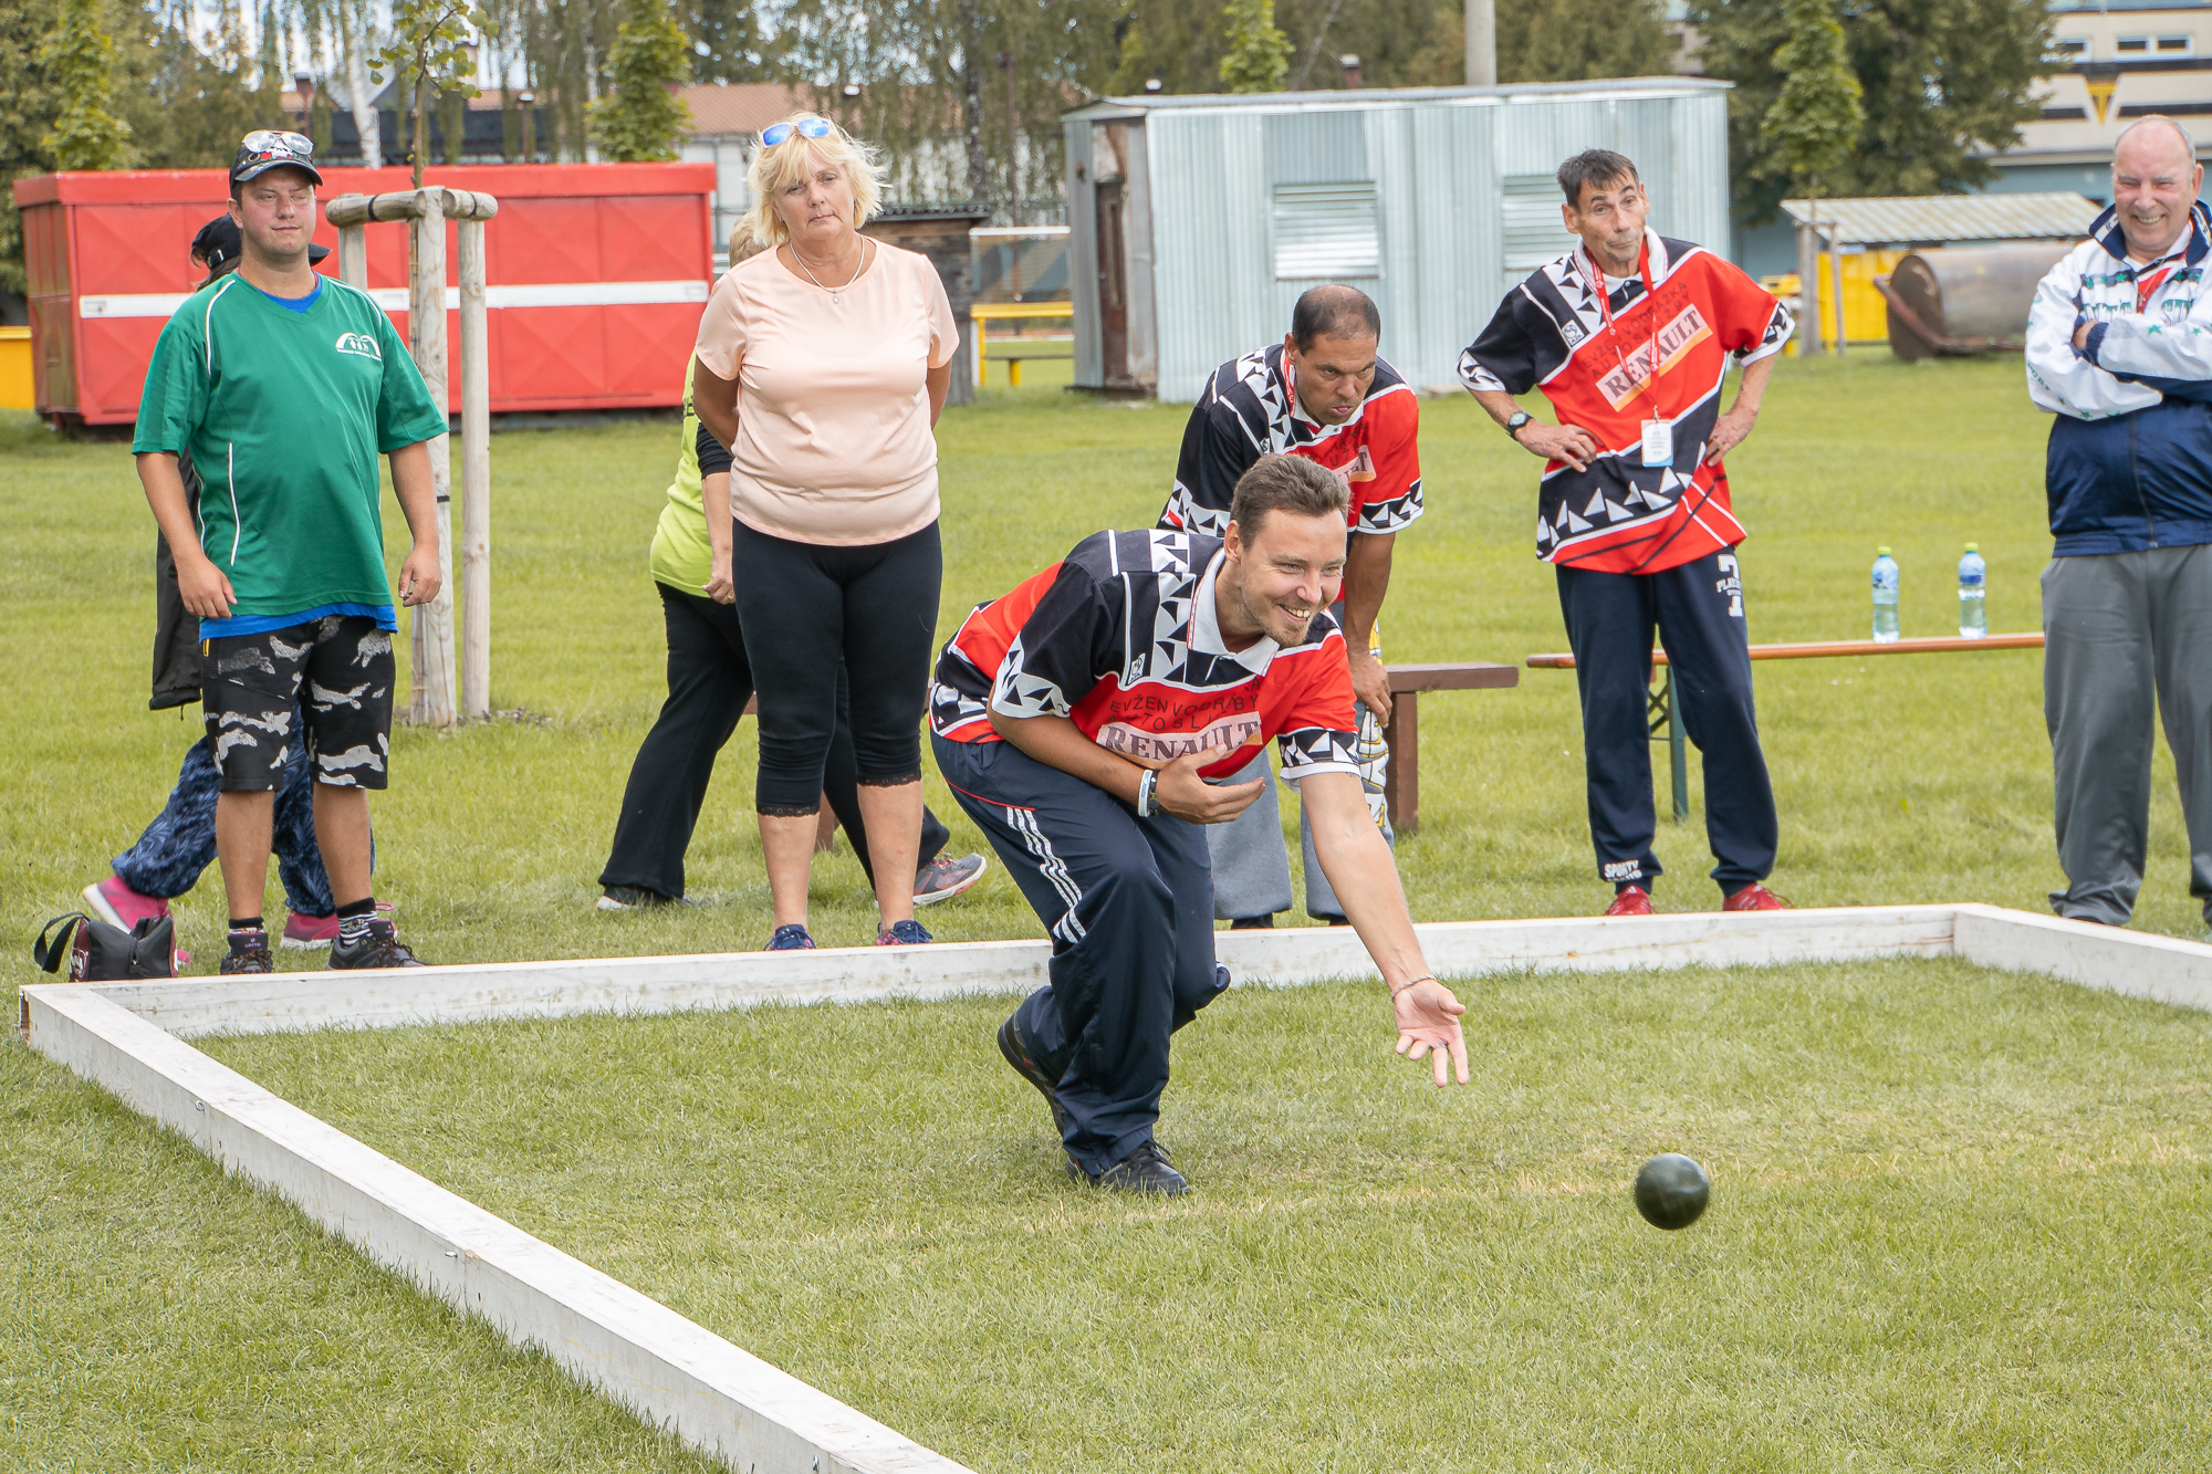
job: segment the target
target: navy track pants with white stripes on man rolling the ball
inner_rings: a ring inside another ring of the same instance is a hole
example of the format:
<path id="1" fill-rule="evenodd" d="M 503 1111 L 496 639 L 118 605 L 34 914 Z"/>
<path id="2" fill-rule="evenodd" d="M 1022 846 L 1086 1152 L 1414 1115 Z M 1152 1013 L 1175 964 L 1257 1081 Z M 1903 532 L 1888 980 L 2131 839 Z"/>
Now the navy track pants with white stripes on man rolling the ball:
<path id="1" fill-rule="evenodd" d="M 1006 741 L 933 737 L 951 783 L 1053 936 L 1051 985 L 1015 1009 L 1068 1113 L 1062 1144 L 1102 1173 L 1152 1140 L 1168 1036 L 1221 996 L 1206 830 L 1137 810 Z"/>

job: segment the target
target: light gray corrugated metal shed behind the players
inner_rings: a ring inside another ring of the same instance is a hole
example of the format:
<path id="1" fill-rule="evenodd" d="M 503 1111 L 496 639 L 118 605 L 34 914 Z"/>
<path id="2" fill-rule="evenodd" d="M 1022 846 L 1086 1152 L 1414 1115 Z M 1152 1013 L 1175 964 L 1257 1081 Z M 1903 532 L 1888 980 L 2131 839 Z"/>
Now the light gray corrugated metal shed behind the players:
<path id="1" fill-rule="evenodd" d="M 1584 148 L 1637 162 L 1659 230 L 1728 248 L 1728 84 L 1703 77 L 1108 97 L 1062 126 L 1088 387 L 1192 401 L 1318 281 L 1376 299 L 1416 387 L 1449 385 L 1506 288 L 1573 243 L 1553 170 Z"/>

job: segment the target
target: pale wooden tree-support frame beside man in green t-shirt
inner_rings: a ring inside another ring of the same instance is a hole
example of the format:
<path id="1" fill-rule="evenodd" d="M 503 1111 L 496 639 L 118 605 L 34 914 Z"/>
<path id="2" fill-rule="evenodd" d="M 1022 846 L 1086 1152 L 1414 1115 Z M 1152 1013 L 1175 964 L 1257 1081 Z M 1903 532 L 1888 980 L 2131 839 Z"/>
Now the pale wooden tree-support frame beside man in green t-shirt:
<path id="1" fill-rule="evenodd" d="M 422 383 L 440 409 L 449 407 L 445 352 L 445 221 L 460 221 L 462 330 L 462 571 L 473 571 L 469 613 L 476 682 L 462 713 L 453 682 L 453 500 L 451 440 L 429 443 L 431 485 L 438 491 L 438 562 L 445 587 L 411 620 L 414 682 L 407 719 L 449 726 L 460 715 L 491 710 L 491 363 L 484 325 L 484 226 L 500 208 L 491 195 L 429 186 L 396 195 L 338 195 L 330 224 L 338 226 L 338 266 L 354 286 L 367 286 L 367 221 L 409 221 L 411 270 L 407 281 L 407 336 Z M 358 272 L 358 279 L 356 279 Z M 473 511 L 471 511 L 473 507 Z"/>

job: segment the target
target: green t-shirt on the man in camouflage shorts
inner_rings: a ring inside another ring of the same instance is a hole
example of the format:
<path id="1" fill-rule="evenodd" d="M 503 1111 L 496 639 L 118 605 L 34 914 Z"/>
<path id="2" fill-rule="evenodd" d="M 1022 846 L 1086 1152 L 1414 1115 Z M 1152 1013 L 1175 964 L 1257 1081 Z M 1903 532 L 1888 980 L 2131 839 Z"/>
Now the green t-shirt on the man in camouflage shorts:
<path id="1" fill-rule="evenodd" d="M 232 617 L 290 615 L 392 602 L 376 458 L 445 429 L 367 292 L 325 277 L 294 312 L 230 274 L 161 330 L 131 449 L 192 451 Z"/>

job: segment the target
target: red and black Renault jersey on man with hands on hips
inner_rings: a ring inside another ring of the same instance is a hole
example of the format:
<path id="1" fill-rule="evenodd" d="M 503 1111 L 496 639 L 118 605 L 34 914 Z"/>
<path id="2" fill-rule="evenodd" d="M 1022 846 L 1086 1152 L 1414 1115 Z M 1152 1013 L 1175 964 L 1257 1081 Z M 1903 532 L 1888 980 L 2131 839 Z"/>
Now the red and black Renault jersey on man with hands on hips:
<path id="1" fill-rule="evenodd" d="M 1703 246 L 1646 230 L 1644 252 L 1652 286 L 1637 274 L 1599 303 L 1604 277 L 1575 246 L 1506 292 L 1460 354 L 1467 387 L 1542 387 L 1562 425 L 1597 440 L 1590 469 L 1544 467 L 1535 551 L 1546 562 L 1657 573 L 1743 542 L 1728 471 L 1705 463 L 1705 440 L 1730 359 L 1778 354 L 1790 310 Z M 1644 423 L 1655 414 L 1672 421 L 1674 460 L 1646 467 Z"/>

